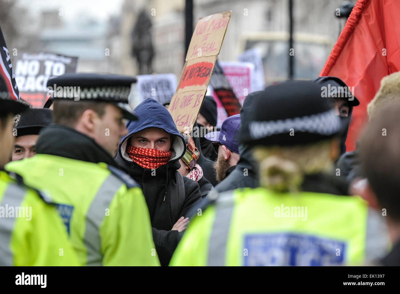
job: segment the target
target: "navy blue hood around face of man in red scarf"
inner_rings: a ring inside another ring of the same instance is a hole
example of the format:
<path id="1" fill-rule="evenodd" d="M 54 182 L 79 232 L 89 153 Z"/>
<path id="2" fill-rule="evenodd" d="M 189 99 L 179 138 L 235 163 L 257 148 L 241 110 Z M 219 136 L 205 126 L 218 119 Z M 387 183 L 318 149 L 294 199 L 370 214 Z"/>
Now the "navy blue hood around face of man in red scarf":
<path id="1" fill-rule="evenodd" d="M 186 152 L 185 139 L 179 134 L 175 126 L 174 120 L 168 110 L 153 98 L 147 98 L 134 109 L 134 113 L 138 116 L 138 120 L 128 120 L 126 129 L 128 134 L 120 140 L 118 144 L 117 157 L 121 157 L 125 162 L 132 162 L 126 154 L 126 145 L 128 138 L 133 134 L 146 130 L 148 128 L 159 128 L 164 132 L 171 134 L 171 151 L 172 156 L 169 162 L 175 162 L 184 156 Z"/>

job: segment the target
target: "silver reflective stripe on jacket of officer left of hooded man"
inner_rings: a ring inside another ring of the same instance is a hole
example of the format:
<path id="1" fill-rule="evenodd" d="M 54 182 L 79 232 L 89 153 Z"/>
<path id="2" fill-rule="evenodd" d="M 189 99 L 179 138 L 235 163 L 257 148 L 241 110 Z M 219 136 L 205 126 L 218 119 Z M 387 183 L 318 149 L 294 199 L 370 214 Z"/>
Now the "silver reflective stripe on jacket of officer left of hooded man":
<path id="1" fill-rule="evenodd" d="M 100 224 L 106 215 L 106 209 L 117 190 L 122 186 L 119 180 L 113 174 L 110 174 L 94 196 L 86 214 L 86 229 L 83 243 L 86 246 L 87 265 L 101 266 L 103 256 L 100 252 Z"/>

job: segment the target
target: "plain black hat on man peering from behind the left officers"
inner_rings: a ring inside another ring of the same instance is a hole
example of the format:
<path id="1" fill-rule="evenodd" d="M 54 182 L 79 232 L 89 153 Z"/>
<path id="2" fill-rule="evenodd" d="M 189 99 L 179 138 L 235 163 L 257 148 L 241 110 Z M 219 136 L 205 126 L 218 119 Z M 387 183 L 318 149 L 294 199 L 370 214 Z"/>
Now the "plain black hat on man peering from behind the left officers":
<path id="1" fill-rule="evenodd" d="M 31 108 L 21 113 L 20 120 L 15 126 L 17 137 L 25 135 L 38 135 L 39 131 L 51 124 L 53 111 L 48 108 Z"/>

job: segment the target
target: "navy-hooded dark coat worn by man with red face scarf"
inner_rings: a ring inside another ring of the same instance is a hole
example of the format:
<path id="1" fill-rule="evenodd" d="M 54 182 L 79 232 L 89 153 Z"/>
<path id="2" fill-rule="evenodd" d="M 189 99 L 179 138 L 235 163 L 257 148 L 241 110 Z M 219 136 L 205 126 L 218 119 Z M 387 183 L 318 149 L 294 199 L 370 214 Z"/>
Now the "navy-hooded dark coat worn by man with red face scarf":
<path id="1" fill-rule="evenodd" d="M 176 129 L 171 114 L 162 104 L 152 98 L 140 103 L 134 113 L 138 120 L 126 124 L 128 134 L 118 145 L 117 164 L 142 187 L 143 195 L 150 213 L 153 239 L 161 265 L 168 265 L 178 245 L 181 234 L 172 226 L 181 216 L 189 217 L 189 210 L 200 207 L 201 194 L 198 184 L 178 172 L 179 159 L 186 152 L 185 139 Z M 160 128 L 171 134 L 172 156 L 167 164 L 155 170 L 142 168 L 126 154 L 128 138 L 148 128 Z"/>

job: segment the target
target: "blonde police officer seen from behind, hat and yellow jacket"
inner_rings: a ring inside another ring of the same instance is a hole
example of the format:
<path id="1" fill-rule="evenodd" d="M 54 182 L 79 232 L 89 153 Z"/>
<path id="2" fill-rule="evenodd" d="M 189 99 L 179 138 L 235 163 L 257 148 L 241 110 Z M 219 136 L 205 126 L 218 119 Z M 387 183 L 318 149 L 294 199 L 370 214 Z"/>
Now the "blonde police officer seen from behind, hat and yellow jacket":
<path id="1" fill-rule="evenodd" d="M 310 81 L 270 86 L 254 97 L 239 138 L 254 147 L 260 187 L 219 195 L 192 219 L 170 265 L 318 266 L 382 256 L 382 216 L 344 196 L 331 171 L 341 124 Z"/>

